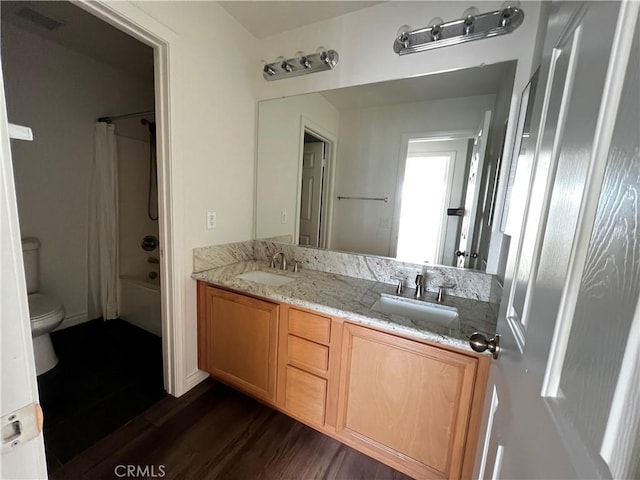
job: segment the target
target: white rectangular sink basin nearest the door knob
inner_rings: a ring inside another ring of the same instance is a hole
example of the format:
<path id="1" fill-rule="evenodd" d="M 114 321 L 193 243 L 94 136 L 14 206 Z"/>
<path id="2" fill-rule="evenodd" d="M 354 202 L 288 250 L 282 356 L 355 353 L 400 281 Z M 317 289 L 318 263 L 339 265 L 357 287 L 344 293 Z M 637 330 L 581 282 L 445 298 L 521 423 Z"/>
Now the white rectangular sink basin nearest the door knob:
<path id="1" fill-rule="evenodd" d="M 437 323 L 448 328 L 458 328 L 458 310 L 447 305 L 380 294 L 371 310 L 390 315 L 399 315 L 412 320 Z"/>

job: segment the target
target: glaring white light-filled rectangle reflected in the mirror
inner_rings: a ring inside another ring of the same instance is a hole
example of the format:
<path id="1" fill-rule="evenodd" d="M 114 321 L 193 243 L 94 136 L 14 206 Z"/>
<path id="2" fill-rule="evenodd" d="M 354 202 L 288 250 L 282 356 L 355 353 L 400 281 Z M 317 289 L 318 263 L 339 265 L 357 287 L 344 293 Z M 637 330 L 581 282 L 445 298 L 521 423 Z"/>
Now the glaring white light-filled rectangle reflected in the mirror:
<path id="1" fill-rule="evenodd" d="M 411 143 L 409 142 L 411 152 Z M 442 263 L 446 209 L 451 197 L 455 152 L 409 153 L 402 185 L 396 258 Z"/>

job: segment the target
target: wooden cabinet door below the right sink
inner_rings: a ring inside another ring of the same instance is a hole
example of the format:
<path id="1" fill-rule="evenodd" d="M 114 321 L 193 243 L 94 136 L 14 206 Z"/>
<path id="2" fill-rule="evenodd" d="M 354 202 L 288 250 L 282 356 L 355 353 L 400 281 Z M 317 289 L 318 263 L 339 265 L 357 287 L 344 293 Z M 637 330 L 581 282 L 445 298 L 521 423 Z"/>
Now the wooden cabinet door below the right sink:
<path id="1" fill-rule="evenodd" d="M 459 478 L 476 366 L 471 356 L 345 323 L 337 433 L 416 478 Z"/>

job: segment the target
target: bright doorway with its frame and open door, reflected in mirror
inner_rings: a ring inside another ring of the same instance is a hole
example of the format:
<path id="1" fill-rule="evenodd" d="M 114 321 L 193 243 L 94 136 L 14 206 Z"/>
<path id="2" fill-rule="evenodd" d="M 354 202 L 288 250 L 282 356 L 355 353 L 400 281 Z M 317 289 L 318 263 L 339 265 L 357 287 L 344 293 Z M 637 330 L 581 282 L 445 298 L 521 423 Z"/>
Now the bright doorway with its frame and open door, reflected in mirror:
<path id="1" fill-rule="evenodd" d="M 494 197 L 488 181 L 491 170 L 483 175 L 491 113 L 485 111 L 475 131 L 402 136 L 391 256 L 478 268 L 484 257 L 478 253 L 483 227 L 491 211 L 485 205 Z M 495 189 L 496 182 L 492 185 Z"/>

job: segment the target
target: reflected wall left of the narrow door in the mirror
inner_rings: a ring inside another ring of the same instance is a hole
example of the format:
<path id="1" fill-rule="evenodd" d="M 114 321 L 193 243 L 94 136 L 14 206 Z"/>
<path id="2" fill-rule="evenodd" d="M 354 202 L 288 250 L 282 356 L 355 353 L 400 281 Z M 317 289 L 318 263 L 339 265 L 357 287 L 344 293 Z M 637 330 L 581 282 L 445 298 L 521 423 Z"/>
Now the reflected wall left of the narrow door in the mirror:
<path id="1" fill-rule="evenodd" d="M 320 94 L 260 102 L 256 238 L 295 235 L 303 118 L 334 136 L 338 133 L 338 110 Z M 286 212 L 285 224 L 282 212 Z"/>

